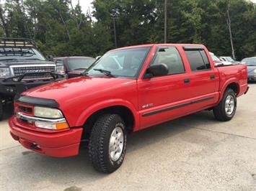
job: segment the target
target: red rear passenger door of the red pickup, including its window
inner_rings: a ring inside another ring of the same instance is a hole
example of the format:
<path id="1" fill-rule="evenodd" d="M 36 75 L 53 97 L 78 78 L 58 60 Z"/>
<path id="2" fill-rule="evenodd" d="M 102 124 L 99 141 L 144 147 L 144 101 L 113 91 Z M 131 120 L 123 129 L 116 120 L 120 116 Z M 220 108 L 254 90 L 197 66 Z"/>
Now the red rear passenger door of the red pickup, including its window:
<path id="1" fill-rule="evenodd" d="M 195 109 L 215 103 L 219 98 L 219 71 L 211 66 L 203 47 L 183 47 L 183 50 L 190 65 L 190 73 L 187 75 L 187 83 L 190 85 L 187 88 L 193 100 L 200 103 L 195 104 Z"/>

